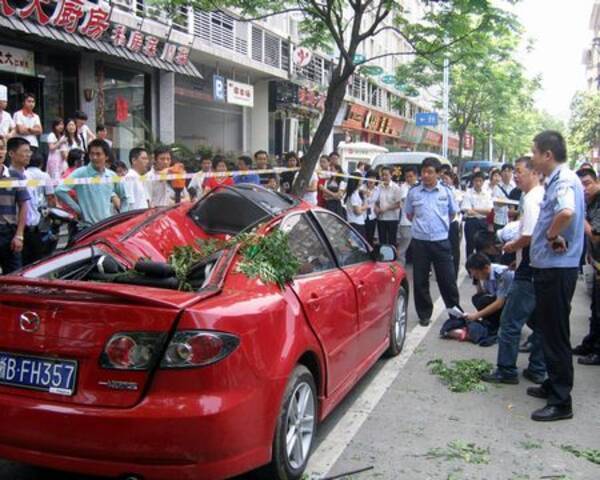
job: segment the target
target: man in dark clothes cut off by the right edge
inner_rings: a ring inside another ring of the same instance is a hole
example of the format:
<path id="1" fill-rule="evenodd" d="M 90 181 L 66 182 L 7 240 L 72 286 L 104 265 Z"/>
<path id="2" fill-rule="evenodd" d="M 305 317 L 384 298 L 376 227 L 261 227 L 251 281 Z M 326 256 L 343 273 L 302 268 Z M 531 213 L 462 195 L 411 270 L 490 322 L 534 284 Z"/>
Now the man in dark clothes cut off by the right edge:
<path id="1" fill-rule="evenodd" d="M 585 235 L 588 255 L 594 267 L 594 286 L 590 331 L 581 345 L 573 349 L 573 354 L 582 355 L 577 361 L 581 365 L 600 365 L 600 182 L 591 168 L 582 168 L 577 175 L 581 179 L 587 204 Z"/>

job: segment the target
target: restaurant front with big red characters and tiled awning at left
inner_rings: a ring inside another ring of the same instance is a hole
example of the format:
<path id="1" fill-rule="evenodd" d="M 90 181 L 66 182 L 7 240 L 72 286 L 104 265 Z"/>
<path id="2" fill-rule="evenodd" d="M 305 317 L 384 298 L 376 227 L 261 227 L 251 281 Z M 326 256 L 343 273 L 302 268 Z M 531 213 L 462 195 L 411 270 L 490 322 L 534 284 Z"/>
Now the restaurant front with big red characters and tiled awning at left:
<path id="1" fill-rule="evenodd" d="M 8 111 L 34 93 L 47 134 L 55 119 L 83 110 L 92 129 L 107 127 L 121 159 L 144 142 L 173 141 L 175 79 L 201 78 L 189 59 L 193 37 L 140 9 L 128 0 L 3 2 L 0 83 L 8 87 Z"/>

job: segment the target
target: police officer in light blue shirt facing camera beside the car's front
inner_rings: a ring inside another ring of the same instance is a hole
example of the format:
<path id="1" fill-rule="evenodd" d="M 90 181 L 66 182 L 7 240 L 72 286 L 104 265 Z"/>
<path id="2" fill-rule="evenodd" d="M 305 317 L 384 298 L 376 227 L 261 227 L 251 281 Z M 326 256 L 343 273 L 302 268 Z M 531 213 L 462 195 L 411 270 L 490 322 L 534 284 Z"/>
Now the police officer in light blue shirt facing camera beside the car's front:
<path id="1" fill-rule="evenodd" d="M 448 240 L 450 222 L 458 212 L 452 191 L 439 182 L 442 164 L 429 157 L 421 165 L 421 183 L 406 197 L 406 216 L 412 222 L 413 289 L 419 323 L 431 321 L 433 302 L 429 292 L 431 264 L 447 308 L 459 306 L 460 298 L 452 248 Z"/>

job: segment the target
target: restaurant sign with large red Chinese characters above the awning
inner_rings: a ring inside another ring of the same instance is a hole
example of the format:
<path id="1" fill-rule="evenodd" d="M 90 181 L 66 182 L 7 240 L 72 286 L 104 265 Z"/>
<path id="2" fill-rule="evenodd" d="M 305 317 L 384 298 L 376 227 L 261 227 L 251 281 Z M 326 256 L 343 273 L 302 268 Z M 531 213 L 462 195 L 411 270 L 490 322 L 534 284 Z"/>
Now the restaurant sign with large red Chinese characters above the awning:
<path id="1" fill-rule="evenodd" d="M 0 14 L 60 28 L 92 40 L 106 40 L 115 47 L 160 58 L 165 62 L 177 65 L 187 65 L 189 62 L 189 47 L 161 42 L 155 36 L 111 23 L 111 10 L 106 4 L 85 0 L 58 0 L 56 3 L 51 0 L 28 0 L 25 6 L 17 8 L 9 0 L 0 0 Z"/>

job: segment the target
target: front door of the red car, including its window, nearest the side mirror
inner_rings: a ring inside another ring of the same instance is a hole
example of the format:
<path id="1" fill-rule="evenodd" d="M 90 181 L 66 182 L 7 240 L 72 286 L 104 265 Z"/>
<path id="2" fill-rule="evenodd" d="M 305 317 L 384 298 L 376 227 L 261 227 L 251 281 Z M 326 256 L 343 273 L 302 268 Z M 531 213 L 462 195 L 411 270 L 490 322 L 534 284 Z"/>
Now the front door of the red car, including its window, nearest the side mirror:
<path id="1" fill-rule="evenodd" d="M 372 260 L 364 239 L 345 221 L 324 210 L 313 212 L 336 256 L 352 281 L 358 303 L 358 351 L 366 359 L 387 340 L 396 300 L 396 280 L 389 263 Z"/>

